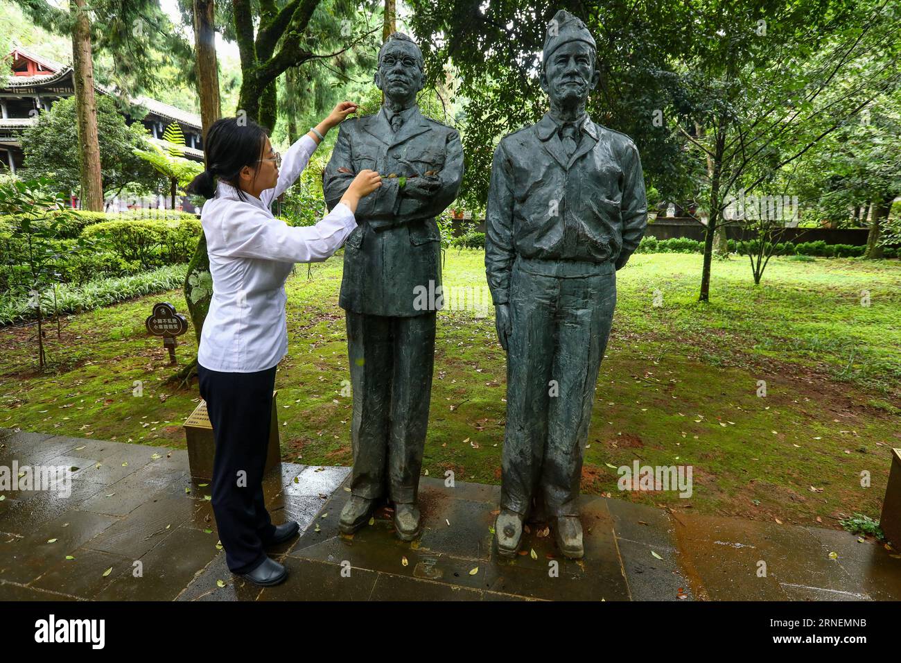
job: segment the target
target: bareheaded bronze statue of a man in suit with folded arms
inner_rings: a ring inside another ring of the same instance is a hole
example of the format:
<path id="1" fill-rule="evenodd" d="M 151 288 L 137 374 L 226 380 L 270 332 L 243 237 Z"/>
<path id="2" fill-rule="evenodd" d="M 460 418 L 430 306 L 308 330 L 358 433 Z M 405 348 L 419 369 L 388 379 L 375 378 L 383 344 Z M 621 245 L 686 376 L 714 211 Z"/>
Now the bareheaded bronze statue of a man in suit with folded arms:
<path id="1" fill-rule="evenodd" d="M 375 83 L 385 104 L 341 124 L 323 173 L 330 209 L 359 170 L 384 176 L 359 201 L 359 227 L 344 248 L 339 304 L 347 316 L 353 475 L 340 528 L 356 531 L 387 497 L 397 535 L 412 540 L 421 529 L 416 495 L 442 299 L 435 216 L 457 197 L 463 151 L 457 131 L 416 105 L 423 55 L 405 34 L 390 35 L 378 51 Z"/>

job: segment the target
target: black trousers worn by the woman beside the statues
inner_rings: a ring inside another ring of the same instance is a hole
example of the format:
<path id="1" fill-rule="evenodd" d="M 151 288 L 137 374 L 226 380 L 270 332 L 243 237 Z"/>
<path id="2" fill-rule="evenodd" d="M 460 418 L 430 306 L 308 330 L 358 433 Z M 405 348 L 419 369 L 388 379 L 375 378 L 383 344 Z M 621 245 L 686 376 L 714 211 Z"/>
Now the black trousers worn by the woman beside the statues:
<path id="1" fill-rule="evenodd" d="M 213 425 L 213 512 L 225 562 L 250 573 L 266 559 L 263 542 L 275 526 L 263 498 L 272 389 L 276 367 L 257 373 L 221 373 L 197 366 L 200 396 Z"/>

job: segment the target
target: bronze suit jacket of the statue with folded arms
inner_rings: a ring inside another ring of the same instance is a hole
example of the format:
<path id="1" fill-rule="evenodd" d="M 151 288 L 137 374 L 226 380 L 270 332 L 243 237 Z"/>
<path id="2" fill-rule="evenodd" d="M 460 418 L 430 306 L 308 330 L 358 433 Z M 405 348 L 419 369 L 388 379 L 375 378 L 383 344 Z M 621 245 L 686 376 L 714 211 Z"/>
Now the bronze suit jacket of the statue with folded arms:
<path id="1" fill-rule="evenodd" d="M 382 110 L 344 121 L 323 172 L 329 209 L 364 169 L 397 177 L 383 179 L 381 187 L 359 201 L 359 227 L 345 245 L 338 303 L 346 310 L 376 316 L 433 313 L 440 307 L 414 307 L 415 289 L 423 286 L 427 292 L 440 291 L 441 235 L 435 216 L 453 202 L 460 189 L 460 134 L 423 117 L 418 107 L 396 134 Z M 437 171 L 441 182 L 429 200 L 406 196 L 404 189 L 399 189 L 399 177 L 412 178 L 429 170 Z"/>

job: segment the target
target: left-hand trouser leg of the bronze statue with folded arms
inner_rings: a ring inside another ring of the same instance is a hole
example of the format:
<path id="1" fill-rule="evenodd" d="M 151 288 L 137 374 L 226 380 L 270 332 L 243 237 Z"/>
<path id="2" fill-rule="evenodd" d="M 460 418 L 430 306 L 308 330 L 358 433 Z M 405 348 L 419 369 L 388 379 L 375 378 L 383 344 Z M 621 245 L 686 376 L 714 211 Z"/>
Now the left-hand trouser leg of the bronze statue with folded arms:
<path id="1" fill-rule="evenodd" d="M 347 314 L 347 346 L 353 416 L 350 492 L 370 500 L 386 493 L 388 412 L 391 398 L 391 320 L 353 311 Z"/>

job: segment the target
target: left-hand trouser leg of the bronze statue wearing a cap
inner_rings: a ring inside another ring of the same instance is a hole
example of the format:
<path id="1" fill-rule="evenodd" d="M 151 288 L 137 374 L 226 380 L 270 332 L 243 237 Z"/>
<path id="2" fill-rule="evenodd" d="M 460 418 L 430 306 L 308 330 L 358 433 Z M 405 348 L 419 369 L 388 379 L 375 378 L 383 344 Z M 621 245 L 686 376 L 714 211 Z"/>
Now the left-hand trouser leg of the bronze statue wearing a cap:
<path id="1" fill-rule="evenodd" d="M 525 516 L 538 484 L 548 428 L 548 382 L 558 279 L 524 272 L 510 281 L 507 410 L 501 457 L 501 507 Z"/>

